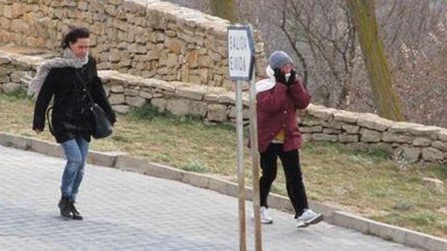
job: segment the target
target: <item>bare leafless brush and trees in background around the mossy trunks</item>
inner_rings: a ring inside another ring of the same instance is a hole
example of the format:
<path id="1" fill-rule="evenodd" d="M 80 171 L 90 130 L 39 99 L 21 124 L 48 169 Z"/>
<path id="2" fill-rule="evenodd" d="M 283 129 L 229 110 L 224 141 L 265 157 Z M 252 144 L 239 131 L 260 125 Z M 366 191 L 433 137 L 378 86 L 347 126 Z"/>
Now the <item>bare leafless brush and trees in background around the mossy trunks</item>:
<path id="1" fill-rule="evenodd" d="M 209 0 L 169 1 L 212 14 Z M 377 110 L 345 0 L 234 2 L 238 22 L 262 31 L 267 54 L 284 50 L 294 57 L 303 76 L 307 74 L 312 102 L 358 112 Z M 447 127 L 443 108 L 447 103 L 447 0 L 375 3 L 378 32 L 405 117 Z"/>

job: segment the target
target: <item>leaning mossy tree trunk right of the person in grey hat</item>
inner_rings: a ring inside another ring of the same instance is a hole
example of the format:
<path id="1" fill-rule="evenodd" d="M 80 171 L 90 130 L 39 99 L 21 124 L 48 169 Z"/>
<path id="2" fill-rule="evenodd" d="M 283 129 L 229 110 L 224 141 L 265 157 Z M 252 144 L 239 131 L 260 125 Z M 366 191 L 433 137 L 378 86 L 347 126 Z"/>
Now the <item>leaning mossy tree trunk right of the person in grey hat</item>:
<path id="1" fill-rule="evenodd" d="M 381 117 L 404 121 L 399 100 L 391 83 L 382 41 L 378 36 L 374 0 L 346 1 L 359 35 L 377 112 Z"/>

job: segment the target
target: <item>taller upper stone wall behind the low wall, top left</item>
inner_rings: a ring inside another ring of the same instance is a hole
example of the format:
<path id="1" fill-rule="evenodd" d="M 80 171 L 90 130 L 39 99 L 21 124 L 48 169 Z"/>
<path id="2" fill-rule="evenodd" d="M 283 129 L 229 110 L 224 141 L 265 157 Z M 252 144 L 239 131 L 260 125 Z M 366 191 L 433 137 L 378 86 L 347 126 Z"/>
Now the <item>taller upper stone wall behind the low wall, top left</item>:
<path id="1" fill-rule="evenodd" d="M 2 0 L 0 42 L 56 51 L 72 26 L 89 27 L 99 69 L 223 87 L 229 22 L 158 0 Z M 261 35 L 257 65 L 266 65 Z"/>

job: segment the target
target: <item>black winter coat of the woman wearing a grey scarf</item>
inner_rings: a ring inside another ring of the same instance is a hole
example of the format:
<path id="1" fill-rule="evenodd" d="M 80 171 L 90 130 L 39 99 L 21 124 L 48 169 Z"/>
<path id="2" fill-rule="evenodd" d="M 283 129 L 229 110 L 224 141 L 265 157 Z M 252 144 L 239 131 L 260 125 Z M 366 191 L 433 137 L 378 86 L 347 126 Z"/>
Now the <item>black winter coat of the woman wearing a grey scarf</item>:
<path id="1" fill-rule="evenodd" d="M 98 77 L 96 61 L 92 57 L 89 57 L 88 62 L 80 69 L 74 67 L 52 68 L 36 100 L 33 130 L 44 129 L 46 111 L 54 95 L 51 124 L 52 134 L 58 143 L 73 139 L 78 135 L 82 135 L 87 141 L 90 141 L 90 120 L 81 114 L 82 107 L 88 106 L 89 99 L 83 93 L 82 84 L 74 70 L 80 73 L 87 85 L 85 91 L 91 93 L 94 102 L 104 109 L 112 124 L 116 121 L 101 79 Z"/>

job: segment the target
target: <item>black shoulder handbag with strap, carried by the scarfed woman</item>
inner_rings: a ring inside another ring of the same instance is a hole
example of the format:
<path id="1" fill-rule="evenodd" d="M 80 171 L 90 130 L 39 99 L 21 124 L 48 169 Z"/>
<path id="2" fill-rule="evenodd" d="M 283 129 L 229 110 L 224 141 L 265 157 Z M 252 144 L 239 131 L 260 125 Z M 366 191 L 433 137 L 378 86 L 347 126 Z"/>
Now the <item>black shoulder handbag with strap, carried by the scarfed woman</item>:
<path id="1" fill-rule="evenodd" d="M 87 93 L 89 104 L 89 117 L 91 122 L 91 135 L 94 138 L 105 138 L 112 134 L 113 127 L 112 123 L 110 123 L 109 118 L 107 117 L 106 112 L 101 108 L 101 106 L 93 101 L 93 98 L 91 97 L 91 94 L 89 91 L 87 91 L 87 86 L 84 83 L 84 80 L 82 79 L 82 76 L 78 73 L 78 71 L 75 69 L 76 77 L 78 77 L 79 81 L 82 85 L 82 91 Z"/>

